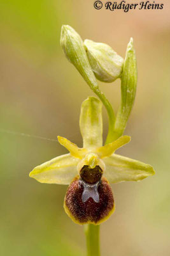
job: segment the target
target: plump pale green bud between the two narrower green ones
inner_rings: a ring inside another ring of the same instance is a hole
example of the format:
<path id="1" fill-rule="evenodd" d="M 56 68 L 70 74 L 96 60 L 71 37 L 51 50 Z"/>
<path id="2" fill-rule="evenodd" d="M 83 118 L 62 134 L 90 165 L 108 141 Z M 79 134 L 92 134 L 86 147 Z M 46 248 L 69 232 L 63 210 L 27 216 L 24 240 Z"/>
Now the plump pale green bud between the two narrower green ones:
<path id="1" fill-rule="evenodd" d="M 109 45 L 85 40 L 84 46 L 98 80 L 111 83 L 121 76 L 124 59 Z"/>

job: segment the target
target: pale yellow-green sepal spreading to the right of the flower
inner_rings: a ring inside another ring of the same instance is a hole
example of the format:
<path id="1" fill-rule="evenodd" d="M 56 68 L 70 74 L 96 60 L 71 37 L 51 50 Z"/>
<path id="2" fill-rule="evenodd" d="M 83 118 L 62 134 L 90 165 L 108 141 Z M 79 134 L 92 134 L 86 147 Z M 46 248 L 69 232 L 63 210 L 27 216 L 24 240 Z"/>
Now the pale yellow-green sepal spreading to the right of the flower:
<path id="1" fill-rule="evenodd" d="M 103 161 L 106 165 L 104 177 L 110 183 L 138 181 L 155 174 L 150 164 L 145 164 L 129 157 L 113 154 L 110 157 L 103 158 Z"/>

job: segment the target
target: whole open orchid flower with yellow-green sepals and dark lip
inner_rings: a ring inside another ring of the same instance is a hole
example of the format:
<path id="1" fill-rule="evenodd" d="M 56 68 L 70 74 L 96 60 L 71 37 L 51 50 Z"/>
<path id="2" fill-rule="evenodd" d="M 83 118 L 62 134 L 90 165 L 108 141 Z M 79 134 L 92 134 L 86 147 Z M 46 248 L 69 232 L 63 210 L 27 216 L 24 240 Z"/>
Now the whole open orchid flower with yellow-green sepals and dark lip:
<path id="1" fill-rule="evenodd" d="M 81 105 L 80 131 L 83 148 L 58 136 L 69 154 L 36 166 L 29 176 L 41 183 L 69 185 L 64 199 L 67 215 L 81 225 L 99 225 L 115 211 L 110 184 L 142 180 L 155 172 L 149 164 L 115 154 L 130 136 L 103 146 L 102 104 L 96 97 Z"/>

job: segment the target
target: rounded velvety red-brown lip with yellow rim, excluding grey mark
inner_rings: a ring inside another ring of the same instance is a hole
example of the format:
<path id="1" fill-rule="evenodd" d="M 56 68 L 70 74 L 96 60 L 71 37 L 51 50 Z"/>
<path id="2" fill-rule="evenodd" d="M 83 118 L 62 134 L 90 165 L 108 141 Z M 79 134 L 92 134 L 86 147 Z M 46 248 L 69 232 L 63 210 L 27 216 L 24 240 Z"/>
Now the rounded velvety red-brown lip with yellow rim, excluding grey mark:
<path id="1" fill-rule="evenodd" d="M 113 210 L 114 199 L 110 184 L 103 178 L 98 185 L 99 202 L 93 198 L 88 198 L 82 202 L 83 184 L 79 177 L 76 177 L 67 189 L 65 205 L 69 216 L 82 223 L 99 223 L 110 214 Z"/>

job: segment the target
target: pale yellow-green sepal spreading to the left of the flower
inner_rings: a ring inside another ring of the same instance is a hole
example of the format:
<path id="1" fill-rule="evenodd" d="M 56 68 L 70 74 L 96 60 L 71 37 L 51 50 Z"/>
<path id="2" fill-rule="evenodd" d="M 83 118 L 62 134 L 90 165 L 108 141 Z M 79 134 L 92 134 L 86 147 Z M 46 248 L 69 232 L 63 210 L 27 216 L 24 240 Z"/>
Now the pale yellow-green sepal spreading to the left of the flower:
<path id="1" fill-rule="evenodd" d="M 80 160 L 70 154 L 53 158 L 52 160 L 36 166 L 29 177 L 41 183 L 48 184 L 70 184 L 71 180 L 78 174 L 76 166 Z"/>

